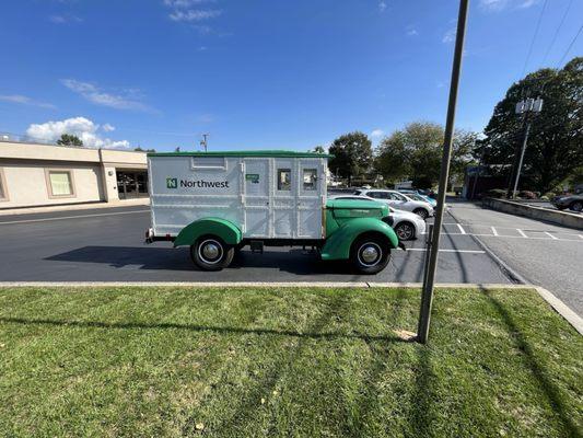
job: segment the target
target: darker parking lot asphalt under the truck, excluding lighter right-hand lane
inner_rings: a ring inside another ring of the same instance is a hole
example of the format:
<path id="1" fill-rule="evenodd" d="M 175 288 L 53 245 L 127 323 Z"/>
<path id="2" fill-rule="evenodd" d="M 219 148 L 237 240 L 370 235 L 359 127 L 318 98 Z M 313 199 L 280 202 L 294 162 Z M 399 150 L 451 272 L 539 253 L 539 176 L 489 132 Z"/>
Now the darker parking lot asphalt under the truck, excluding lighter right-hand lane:
<path id="1" fill-rule="evenodd" d="M 446 215 L 445 222 L 454 219 Z M 187 247 L 143 243 L 147 207 L 59 211 L 0 218 L 0 281 L 421 281 L 423 239 L 396 250 L 375 276 L 322 262 L 302 249 L 242 251 L 219 273 L 197 270 Z M 454 230 L 455 231 L 455 230 Z M 470 235 L 442 238 L 440 283 L 510 283 Z"/>

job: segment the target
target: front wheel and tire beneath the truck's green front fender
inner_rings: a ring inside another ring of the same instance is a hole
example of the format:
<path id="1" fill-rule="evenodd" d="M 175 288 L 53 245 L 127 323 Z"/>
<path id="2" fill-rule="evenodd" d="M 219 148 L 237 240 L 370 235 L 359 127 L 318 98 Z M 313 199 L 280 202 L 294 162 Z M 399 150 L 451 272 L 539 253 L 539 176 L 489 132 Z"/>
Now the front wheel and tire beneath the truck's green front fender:
<path id="1" fill-rule="evenodd" d="M 371 256 L 374 258 L 370 258 Z M 350 249 L 350 263 L 360 274 L 377 274 L 386 267 L 389 260 L 388 240 L 382 235 L 359 237 Z"/>

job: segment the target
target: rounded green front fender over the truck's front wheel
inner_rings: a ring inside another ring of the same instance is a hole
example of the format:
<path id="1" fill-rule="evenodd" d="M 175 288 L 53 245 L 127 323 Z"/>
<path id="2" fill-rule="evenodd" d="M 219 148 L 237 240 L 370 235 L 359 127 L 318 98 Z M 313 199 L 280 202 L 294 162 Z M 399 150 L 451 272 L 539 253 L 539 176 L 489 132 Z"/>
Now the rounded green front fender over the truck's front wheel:
<path id="1" fill-rule="evenodd" d="M 322 247 L 322 260 L 346 260 L 350 257 L 350 246 L 366 232 L 378 232 L 388 239 L 390 247 L 397 247 L 399 239 L 395 231 L 376 218 L 351 219 L 326 239 Z"/>

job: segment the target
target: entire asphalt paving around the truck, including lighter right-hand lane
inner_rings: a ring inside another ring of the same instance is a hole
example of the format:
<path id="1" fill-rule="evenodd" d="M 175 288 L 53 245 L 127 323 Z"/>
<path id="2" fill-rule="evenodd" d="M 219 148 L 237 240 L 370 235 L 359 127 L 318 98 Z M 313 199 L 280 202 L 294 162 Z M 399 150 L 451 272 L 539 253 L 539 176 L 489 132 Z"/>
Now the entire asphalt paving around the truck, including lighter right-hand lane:
<path id="1" fill-rule="evenodd" d="M 450 204 L 442 230 L 440 283 L 511 279 L 476 242 L 479 239 L 527 281 L 551 290 L 583 314 L 583 231 Z M 421 281 L 423 240 L 393 252 L 375 276 L 346 263 L 320 262 L 301 249 L 243 251 L 220 273 L 197 270 L 188 249 L 143 244 L 143 206 L 0 217 L 0 281 Z"/>

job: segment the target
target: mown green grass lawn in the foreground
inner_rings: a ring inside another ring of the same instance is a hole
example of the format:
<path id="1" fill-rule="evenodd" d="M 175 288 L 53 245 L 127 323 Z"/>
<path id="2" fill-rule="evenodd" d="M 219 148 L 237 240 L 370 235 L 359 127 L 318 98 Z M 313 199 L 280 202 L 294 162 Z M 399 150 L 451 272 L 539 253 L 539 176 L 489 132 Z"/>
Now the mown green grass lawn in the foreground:
<path id="1" fill-rule="evenodd" d="M 583 341 L 533 290 L 0 289 L 0 436 L 575 437 Z"/>

